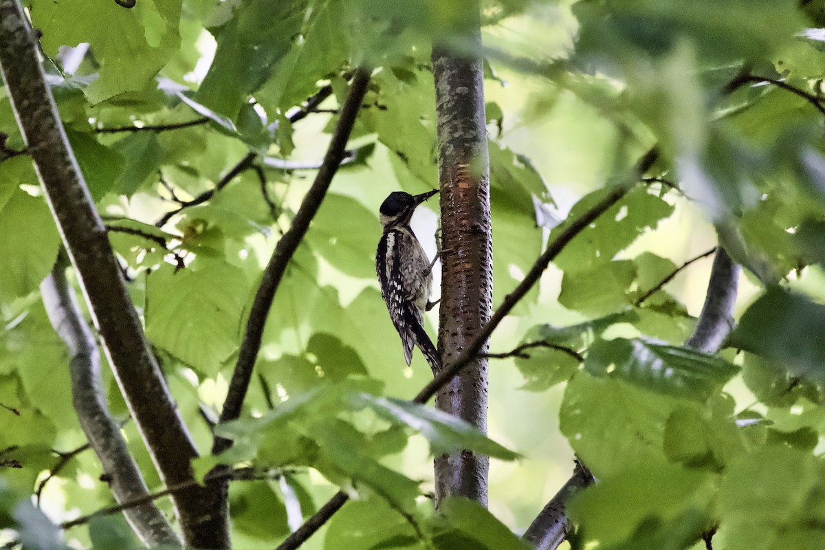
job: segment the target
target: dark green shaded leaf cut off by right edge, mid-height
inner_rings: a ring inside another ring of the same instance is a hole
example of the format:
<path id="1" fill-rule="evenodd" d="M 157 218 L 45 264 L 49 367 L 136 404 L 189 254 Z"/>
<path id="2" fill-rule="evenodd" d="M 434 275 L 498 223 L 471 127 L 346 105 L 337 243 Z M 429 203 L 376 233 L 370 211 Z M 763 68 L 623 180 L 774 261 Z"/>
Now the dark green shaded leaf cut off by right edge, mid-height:
<path id="1" fill-rule="evenodd" d="M 790 374 L 825 381 L 825 306 L 801 294 L 767 289 L 742 314 L 731 345 L 781 364 Z"/>

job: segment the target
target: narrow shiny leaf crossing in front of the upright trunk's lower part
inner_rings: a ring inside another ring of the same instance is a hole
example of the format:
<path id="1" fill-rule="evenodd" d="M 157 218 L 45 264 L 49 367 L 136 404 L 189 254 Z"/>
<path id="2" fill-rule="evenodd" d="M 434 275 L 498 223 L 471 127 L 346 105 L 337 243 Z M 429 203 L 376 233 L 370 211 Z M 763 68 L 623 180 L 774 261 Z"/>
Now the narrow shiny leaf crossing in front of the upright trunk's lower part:
<path id="1" fill-rule="evenodd" d="M 488 439 L 472 425 L 446 412 L 436 411 L 431 407 L 413 402 L 392 397 L 376 397 L 367 393 L 352 395 L 350 399 L 355 407 L 359 404 L 370 407 L 384 420 L 408 425 L 420 432 L 430 442 L 433 455 L 466 449 L 502 460 L 515 460 L 519 457 L 518 454 Z"/>

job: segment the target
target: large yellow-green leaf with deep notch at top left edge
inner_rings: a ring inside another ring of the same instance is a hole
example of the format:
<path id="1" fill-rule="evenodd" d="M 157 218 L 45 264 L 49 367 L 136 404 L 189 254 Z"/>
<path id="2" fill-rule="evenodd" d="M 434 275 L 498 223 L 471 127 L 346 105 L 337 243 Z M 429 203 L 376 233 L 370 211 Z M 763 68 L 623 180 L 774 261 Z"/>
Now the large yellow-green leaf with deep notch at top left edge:
<path id="1" fill-rule="evenodd" d="M 91 45 L 100 77 L 83 93 L 93 104 L 144 89 L 181 41 L 180 0 L 148 0 L 132 9 L 107 0 L 31 0 L 31 16 L 50 57 L 62 45 Z"/>

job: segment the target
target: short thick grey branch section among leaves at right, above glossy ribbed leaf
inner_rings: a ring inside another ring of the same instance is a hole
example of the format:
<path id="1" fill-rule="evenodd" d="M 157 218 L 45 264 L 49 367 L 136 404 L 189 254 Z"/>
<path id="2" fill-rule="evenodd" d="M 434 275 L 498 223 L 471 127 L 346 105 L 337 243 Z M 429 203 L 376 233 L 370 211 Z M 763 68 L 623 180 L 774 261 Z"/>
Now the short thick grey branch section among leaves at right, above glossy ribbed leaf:
<path id="1" fill-rule="evenodd" d="M 685 341 L 686 347 L 707 354 L 719 351 L 733 330 L 733 306 L 741 270 L 742 267 L 731 260 L 724 248 L 716 247 L 705 304 L 693 334 Z"/>

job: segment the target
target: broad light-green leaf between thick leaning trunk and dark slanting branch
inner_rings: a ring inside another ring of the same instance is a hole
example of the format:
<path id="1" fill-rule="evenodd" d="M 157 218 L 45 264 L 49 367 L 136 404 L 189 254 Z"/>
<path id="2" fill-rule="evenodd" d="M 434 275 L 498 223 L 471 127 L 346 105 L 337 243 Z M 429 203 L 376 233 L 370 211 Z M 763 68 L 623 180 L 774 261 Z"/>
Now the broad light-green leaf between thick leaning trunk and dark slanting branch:
<path id="1" fill-rule="evenodd" d="M 146 285 L 146 335 L 186 364 L 214 374 L 238 349 L 248 281 L 243 270 L 199 258 L 165 265 Z"/>

